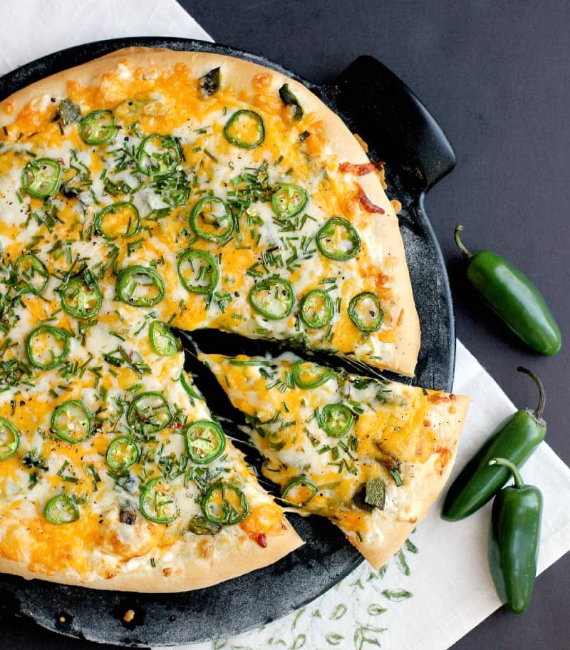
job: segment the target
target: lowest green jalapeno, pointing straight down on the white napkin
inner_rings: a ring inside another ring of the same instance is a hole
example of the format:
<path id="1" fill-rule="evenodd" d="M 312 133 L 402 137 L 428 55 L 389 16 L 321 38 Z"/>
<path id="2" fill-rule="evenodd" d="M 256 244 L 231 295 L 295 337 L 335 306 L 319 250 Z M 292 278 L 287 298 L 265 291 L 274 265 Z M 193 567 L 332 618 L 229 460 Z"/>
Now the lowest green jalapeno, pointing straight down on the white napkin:
<path id="1" fill-rule="evenodd" d="M 497 595 L 510 612 L 522 614 L 530 604 L 537 577 L 542 495 L 524 485 L 516 465 L 493 458 L 489 465 L 506 468 L 514 478 L 493 502 L 489 530 L 489 569 Z"/>

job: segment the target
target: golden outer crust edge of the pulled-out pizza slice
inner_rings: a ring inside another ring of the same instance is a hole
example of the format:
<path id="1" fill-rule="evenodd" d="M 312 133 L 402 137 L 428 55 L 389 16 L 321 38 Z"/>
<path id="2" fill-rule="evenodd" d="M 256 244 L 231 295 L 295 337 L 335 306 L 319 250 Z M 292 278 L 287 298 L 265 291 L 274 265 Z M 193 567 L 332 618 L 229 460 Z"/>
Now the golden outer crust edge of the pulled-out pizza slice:
<path id="1" fill-rule="evenodd" d="M 451 453 L 450 459 L 441 472 L 437 471 L 437 465 L 432 465 L 421 484 L 418 484 L 417 487 L 420 491 L 416 500 L 418 504 L 416 509 L 418 512 L 417 518 L 413 522 L 395 522 L 387 518 L 380 520 L 377 529 L 383 535 L 383 542 L 379 546 L 365 547 L 351 538 L 351 541 L 375 569 L 382 567 L 398 551 L 418 523 L 427 515 L 427 511 L 445 487 L 445 483 L 447 483 L 447 479 L 455 463 L 455 457 L 457 456 L 457 448 L 459 446 L 461 430 L 463 423 L 465 423 L 469 402 L 470 399 L 468 397 L 462 395 L 455 396 L 453 402 L 456 408 L 455 417 L 449 423 L 449 437 L 447 438 L 447 448 L 449 448 Z"/>

